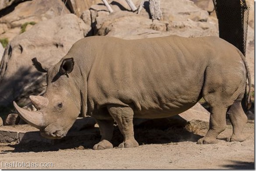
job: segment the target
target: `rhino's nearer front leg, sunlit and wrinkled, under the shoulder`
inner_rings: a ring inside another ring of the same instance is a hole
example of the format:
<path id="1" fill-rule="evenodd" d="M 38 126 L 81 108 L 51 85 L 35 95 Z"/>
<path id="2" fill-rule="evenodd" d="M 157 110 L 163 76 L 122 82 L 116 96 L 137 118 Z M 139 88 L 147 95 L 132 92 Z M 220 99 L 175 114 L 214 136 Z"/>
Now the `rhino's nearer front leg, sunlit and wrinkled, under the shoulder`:
<path id="1" fill-rule="evenodd" d="M 134 138 L 133 132 L 133 110 L 129 107 L 108 106 L 108 112 L 117 122 L 117 126 L 124 136 L 124 142 L 119 148 L 138 147 L 139 143 Z"/>

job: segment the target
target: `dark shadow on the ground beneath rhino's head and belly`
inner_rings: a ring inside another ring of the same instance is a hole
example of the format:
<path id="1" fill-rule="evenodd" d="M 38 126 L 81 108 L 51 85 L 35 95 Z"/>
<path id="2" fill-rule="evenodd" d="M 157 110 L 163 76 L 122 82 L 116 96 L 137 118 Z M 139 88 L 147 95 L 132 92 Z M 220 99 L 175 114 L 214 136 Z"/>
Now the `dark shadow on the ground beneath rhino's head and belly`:
<path id="1" fill-rule="evenodd" d="M 7 145 L 14 148 L 14 150 L 4 150 L 1 153 L 8 152 L 42 152 L 42 151 L 58 151 L 64 149 L 92 149 L 94 144 L 100 141 L 99 128 L 90 128 L 82 130 L 81 134 L 67 135 L 60 140 L 46 140 L 45 141 L 22 141 L 14 145 Z M 149 128 L 145 126 L 136 126 L 134 128 L 135 139 L 139 145 L 142 144 L 165 144 L 182 141 L 196 142 L 202 136 L 189 132 L 183 126 L 173 126 L 168 129 Z M 39 132 L 35 132 L 39 135 Z M 38 136 L 37 135 L 37 136 Z M 26 136 L 26 135 L 24 135 Z M 31 135 L 30 135 L 31 136 Z M 29 137 L 28 137 L 29 138 Z M 39 137 L 40 138 L 40 137 Z M 123 141 L 117 126 L 114 127 L 114 136 L 112 143 L 117 147 Z"/>

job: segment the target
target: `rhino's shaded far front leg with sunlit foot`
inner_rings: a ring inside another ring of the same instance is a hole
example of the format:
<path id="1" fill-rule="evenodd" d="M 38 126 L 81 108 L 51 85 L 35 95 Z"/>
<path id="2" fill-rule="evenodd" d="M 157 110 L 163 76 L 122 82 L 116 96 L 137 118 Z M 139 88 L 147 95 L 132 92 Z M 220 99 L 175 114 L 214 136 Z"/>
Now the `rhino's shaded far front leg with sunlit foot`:
<path id="1" fill-rule="evenodd" d="M 102 120 L 96 119 L 99 128 L 100 128 L 100 143 L 97 143 L 93 146 L 93 150 L 104 150 L 113 148 L 112 143 L 110 140 L 113 136 L 113 129 L 114 129 L 114 120 Z"/>

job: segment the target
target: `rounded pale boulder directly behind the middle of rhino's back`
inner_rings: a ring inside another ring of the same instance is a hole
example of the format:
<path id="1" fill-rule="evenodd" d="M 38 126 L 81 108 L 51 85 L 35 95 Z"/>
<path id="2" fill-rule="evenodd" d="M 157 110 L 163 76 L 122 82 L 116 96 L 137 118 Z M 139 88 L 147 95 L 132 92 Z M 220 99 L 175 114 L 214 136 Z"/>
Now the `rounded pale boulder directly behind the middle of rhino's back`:
<path id="1" fill-rule="evenodd" d="M 101 24 L 102 21 L 102 24 Z M 160 37 L 166 33 L 167 23 L 152 21 L 149 18 L 128 11 L 117 11 L 107 18 L 96 17 L 97 35 L 107 35 L 124 39 Z"/>

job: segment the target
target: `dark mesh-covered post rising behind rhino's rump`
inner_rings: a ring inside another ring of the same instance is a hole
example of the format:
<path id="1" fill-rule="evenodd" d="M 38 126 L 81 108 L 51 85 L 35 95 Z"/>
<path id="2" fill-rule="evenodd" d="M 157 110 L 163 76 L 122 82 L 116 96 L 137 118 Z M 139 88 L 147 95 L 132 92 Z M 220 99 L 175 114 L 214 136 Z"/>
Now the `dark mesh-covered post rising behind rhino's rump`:
<path id="1" fill-rule="evenodd" d="M 245 56 L 249 7 L 245 0 L 213 0 L 219 36 L 235 45 Z"/>

